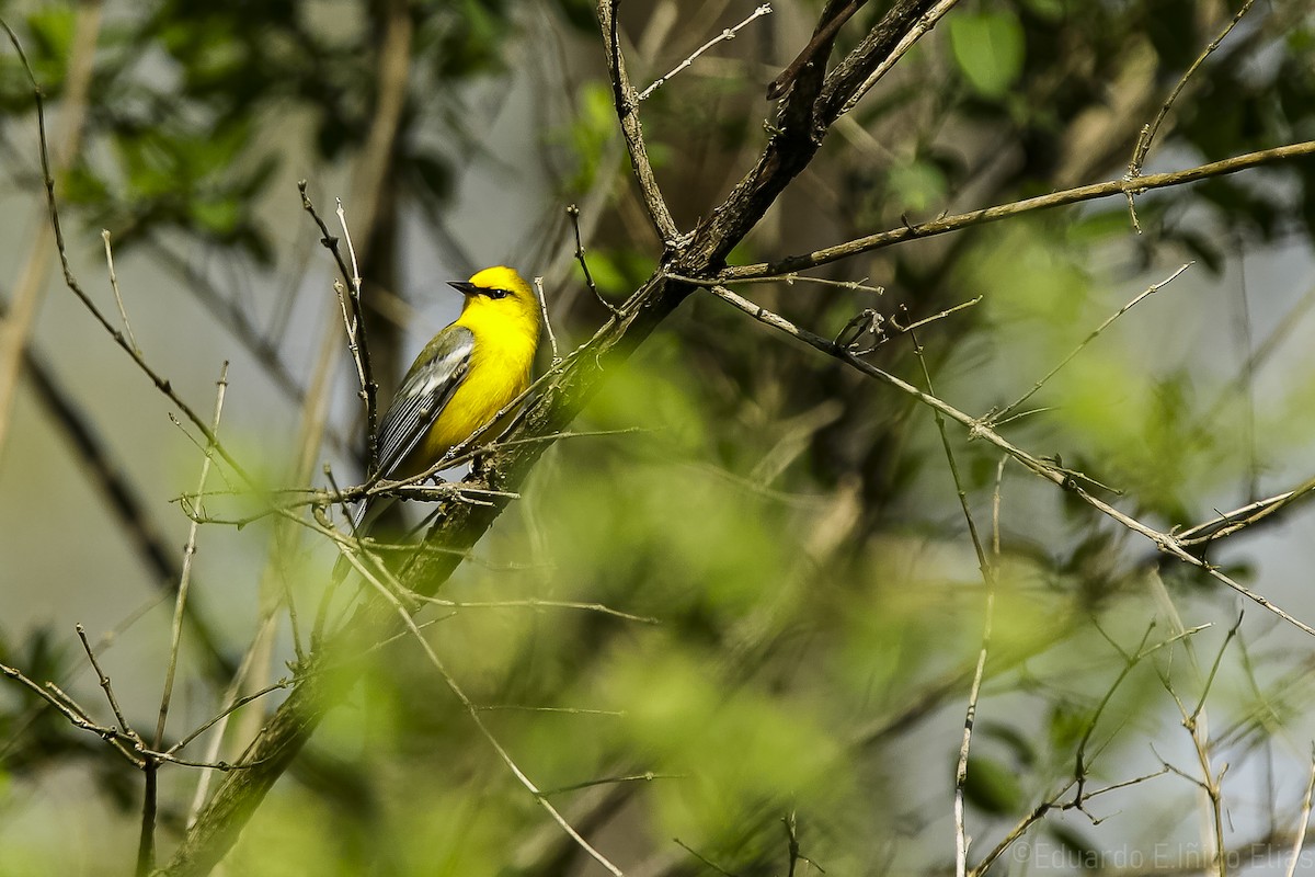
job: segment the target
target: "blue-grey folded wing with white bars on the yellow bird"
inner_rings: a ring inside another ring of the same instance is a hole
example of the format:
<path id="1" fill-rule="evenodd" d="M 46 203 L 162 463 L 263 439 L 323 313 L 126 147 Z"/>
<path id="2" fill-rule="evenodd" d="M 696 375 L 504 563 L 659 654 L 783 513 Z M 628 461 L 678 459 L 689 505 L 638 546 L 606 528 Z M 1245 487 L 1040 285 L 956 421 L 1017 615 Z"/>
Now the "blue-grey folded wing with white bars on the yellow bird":
<path id="1" fill-rule="evenodd" d="M 438 419 L 471 367 L 475 334 L 448 326 L 430 342 L 402 379 L 379 423 L 379 471 L 391 477 Z"/>

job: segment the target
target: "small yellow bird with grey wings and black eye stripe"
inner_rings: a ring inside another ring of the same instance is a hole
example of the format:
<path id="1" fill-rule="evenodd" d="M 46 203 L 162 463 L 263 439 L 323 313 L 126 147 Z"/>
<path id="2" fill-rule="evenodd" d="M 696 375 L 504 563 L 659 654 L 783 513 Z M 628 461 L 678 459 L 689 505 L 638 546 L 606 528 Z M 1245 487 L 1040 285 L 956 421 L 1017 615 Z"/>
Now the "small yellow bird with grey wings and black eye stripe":
<path id="1" fill-rule="evenodd" d="M 373 481 L 431 469 L 530 385 L 540 320 L 525 277 L 494 266 L 447 285 L 466 296 L 462 314 L 425 344 L 380 418 Z M 358 536 L 375 505 L 367 497 L 352 517 Z"/>

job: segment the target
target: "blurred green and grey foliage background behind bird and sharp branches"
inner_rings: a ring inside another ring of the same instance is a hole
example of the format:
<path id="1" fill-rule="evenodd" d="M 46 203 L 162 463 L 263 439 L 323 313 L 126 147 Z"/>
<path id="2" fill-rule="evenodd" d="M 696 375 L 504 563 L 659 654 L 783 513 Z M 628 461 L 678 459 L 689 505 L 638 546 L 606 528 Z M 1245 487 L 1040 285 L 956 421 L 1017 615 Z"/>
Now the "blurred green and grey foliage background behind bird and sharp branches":
<path id="1" fill-rule="evenodd" d="M 838 51 L 889 5 L 864 7 Z M 636 84 L 755 8 L 621 4 Z M 773 116 L 764 87 L 819 8 L 773 3 L 643 101 L 681 229 L 752 166 Z M 731 262 L 1118 179 L 1241 8 L 961 0 L 840 120 Z M 108 230 L 135 346 L 203 415 L 229 363 L 220 433 L 270 490 L 323 486 L 325 464 L 338 484 L 362 476 L 335 267 L 299 180 L 334 231 L 342 200 L 385 397 L 455 317 L 443 281 L 487 264 L 544 279 L 564 351 L 594 331 L 608 312 L 584 283 L 567 205 L 604 298 L 622 301 L 656 267 L 588 3 L 11 0 L 0 17 L 46 95 L 74 275 L 118 326 Z M 1145 172 L 1315 138 L 1312 41 L 1308 4 L 1247 4 L 1170 108 Z M 63 283 L 32 87 L 9 49 L 0 114 L 0 661 L 112 723 L 80 623 L 147 732 L 188 539 L 180 497 L 196 489 L 204 439 L 171 422 L 170 401 Z M 924 389 L 930 373 L 936 396 L 985 415 L 1190 263 L 999 426 L 1169 531 L 1310 477 L 1312 171 L 1298 159 L 1139 196 L 1140 230 L 1115 197 L 811 272 L 881 295 L 802 280 L 738 291 L 826 337 L 865 308 L 907 325 L 980 298 L 922 326 L 917 344 L 889 331 L 868 359 Z M 456 605 L 421 619 L 498 742 L 627 874 L 953 868 L 955 768 L 988 607 L 960 489 L 995 582 L 969 866 L 1003 844 L 992 873 L 1222 873 L 1222 839 L 1230 872 L 1290 873 L 1315 740 L 1315 643 L 1298 628 L 1001 468 L 949 425 L 956 484 L 926 406 L 704 293 L 573 429 L 592 434 L 539 462 L 441 592 Z M 289 676 L 337 555 L 268 517 L 230 523 L 270 497 L 218 469 L 167 742 L 224 707 L 245 656 L 247 690 Z M 1207 560 L 1315 623 L 1312 544 L 1298 502 Z M 225 873 L 605 873 L 414 642 L 373 659 Z M 125 873 L 141 773 L 4 682 L 0 874 Z M 237 760 L 281 697 L 235 713 L 213 752 Z M 206 760 L 208 746 L 185 752 Z M 162 770 L 162 855 L 206 773 Z"/>

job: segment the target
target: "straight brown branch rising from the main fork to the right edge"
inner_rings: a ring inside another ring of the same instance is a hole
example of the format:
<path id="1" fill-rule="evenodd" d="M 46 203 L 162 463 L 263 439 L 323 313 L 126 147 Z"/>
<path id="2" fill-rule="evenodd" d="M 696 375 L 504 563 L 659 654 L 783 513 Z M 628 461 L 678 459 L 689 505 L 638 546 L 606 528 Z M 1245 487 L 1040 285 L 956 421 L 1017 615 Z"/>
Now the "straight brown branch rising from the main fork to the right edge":
<path id="1" fill-rule="evenodd" d="M 777 262 L 760 262 L 756 264 L 730 267 L 721 271 L 717 275 L 717 279 L 718 281 L 726 284 L 738 283 L 750 277 L 780 276 L 793 271 L 805 271 L 807 268 L 815 268 L 831 262 L 838 262 L 860 252 L 881 250 L 903 241 L 917 241 L 938 234 L 947 234 L 949 231 L 959 231 L 960 229 L 984 225 L 986 222 L 997 222 L 1007 217 L 1031 213 L 1032 210 L 1066 206 L 1069 204 L 1080 204 L 1082 201 L 1091 201 L 1114 195 L 1124 195 L 1127 192 L 1140 193 L 1151 189 L 1184 185 L 1186 183 L 1195 183 L 1197 180 L 1224 176 L 1227 174 L 1237 174 L 1239 171 L 1247 171 L 1255 167 L 1273 164 L 1274 162 L 1283 162 L 1312 154 L 1315 154 L 1315 141 L 1303 141 L 1289 146 L 1276 146 L 1273 149 L 1260 150 L 1256 153 L 1245 153 L 1243 155 L 1235 155 L 1233 158 L 1226 158 L 1219 162 L 1198 164 L 1197 167 L 1190 167 L 1182 171 L 1139 176 L 1136 180 L 1118 179 L 1107 180 L 1105 183 L 1093 183 L 1090 185 L 1080 185 L 1077 188 L 1061 189 L 1049 195 L 1023 199 L 1022 201 L 1010 201 L 1009 204 L 998 204 L 995 206 L 982 208 L 969 213 L 940 217 L 930 222 L 905 225 L 889 231 L 880 231 L 877 234 L 855 238 L 835 246 L 814 250 L 813 252 L 786 256 L 784 259 L 778 259 Z"/>

